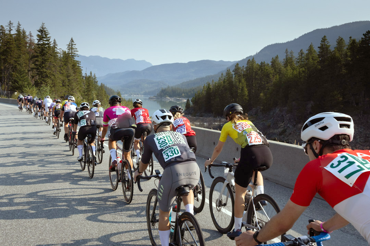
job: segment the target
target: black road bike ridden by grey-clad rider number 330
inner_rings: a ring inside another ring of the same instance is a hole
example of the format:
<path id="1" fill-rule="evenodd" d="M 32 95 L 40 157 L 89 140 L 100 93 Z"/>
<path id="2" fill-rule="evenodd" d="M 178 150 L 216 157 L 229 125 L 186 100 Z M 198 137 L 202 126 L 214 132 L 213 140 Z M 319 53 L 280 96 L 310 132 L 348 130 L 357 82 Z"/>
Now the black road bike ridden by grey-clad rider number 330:
<path id="1" fill-rule="evenodd" d="M 142 188 L 140 186 L 140 179 L 150 179 L 152 177 L 160 180 L 162 174 L 159 170 L 155 170 L 155 175 L 139 175 L 137 177 L 137 185 L 140 191 L 142 191 Z M 176 191 L 176 216 L 175 223 L 172 224 L 171 222 L 171 231 L 173 230 L 173 233 L 171 232 L 169 245 L 205 245 L 202 229 L 199 226 L 199 223 L 194 215 L 189 212 L 180 212 L 182 197 L 189 194 L 189 186 L 182 185 L 176 188 Z M 157 200 L 157 189 L 151 189 L 151 191 L 149 192 L 146 211 L 150 242 L 153 246 L 161 245 L 161 240 L 159 239 L 158 232 L 159 204 Z M 173 218 L 170 221 L 172 220 Z"/>

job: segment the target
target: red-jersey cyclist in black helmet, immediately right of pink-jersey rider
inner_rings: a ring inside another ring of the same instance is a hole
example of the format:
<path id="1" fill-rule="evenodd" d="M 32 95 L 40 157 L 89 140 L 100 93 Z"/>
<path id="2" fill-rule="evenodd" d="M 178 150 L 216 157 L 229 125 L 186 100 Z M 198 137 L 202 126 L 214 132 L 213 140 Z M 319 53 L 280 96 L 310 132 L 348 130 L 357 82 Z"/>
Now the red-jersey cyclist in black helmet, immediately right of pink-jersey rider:
<path id="1" fill-rule="evenodd" d="M 142 140 L 144 141 L 145 138 L 144 136 L 142 136 L 142 134 L 144 133 L 144 131 L 147 131 L 149 135 L 149 133 L 151 133 L 151 131 L 153 130 L 153 127 L 152 127 L 152 122 L 149 119 L 148 109 L 144 109 L 142 107 L 142 100 L 136 99 L 132 103 L 132 105 L 134 106 L 134 108 L 131 110 L 131 115 L 132 117 L 135 118 L 136 126 L 137 126 L 135 130 L 134 149 L 137 155 L 136 164 L 139 164 L 139 161 L 141 158 L 140 146 L 139 146 L 140 138 L 142 138 Z"/>

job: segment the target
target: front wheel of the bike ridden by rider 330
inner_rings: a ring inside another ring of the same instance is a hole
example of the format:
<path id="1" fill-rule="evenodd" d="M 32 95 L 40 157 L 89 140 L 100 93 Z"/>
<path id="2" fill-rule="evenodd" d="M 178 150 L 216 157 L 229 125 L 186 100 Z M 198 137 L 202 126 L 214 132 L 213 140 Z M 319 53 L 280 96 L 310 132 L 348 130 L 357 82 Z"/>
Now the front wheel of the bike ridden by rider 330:
<path id="1" fill-rule="evenodd" d="M 157 189 L 149 192 L 147 199 L 147 225 L 149 239 L 153 246 L 161 245 L 158 232 L 159 223 L 159 204 L 157 201 Z"/>

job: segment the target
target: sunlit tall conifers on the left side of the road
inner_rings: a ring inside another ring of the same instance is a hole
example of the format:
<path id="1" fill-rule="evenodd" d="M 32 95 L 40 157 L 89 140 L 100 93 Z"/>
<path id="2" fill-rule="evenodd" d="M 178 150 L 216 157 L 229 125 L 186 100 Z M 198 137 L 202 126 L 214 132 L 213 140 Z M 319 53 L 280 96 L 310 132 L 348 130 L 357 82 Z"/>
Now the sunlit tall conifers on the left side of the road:
<path id="1" fill-rule="evenodd" d="M 73 38 L 64 51 L 58 48 L 55 39 L 51 42 L 44 23 L 37 30 L 36 43 L 32 33 L 27 35 L 20 23 L 14 34 L 11 21 L 6 27 L 0 26 L 0 81 L 3 90 L 15 91 L 17 96 L 21 92 L 40 98 L 63 99 L 64 95 L 73 95 L 77 104 L 91 104 L 98 99 L 103 107 L 109 106 L 108 91 L 114 90 L 98 85 L 95 74 L 82 74 Z"/>

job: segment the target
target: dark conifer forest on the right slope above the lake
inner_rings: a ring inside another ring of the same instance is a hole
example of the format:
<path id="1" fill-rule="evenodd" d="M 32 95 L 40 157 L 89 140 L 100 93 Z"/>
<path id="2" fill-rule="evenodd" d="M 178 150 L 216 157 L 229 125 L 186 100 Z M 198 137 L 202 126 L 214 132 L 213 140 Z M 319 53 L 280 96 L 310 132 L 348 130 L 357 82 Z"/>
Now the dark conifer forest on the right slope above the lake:
<path id="1" fill-rule="evenodd" d="M 192 112 L 221 116 L 225 105 L 236 102 L 245 112 L 283 106 L 300 118 L 326 111 L 366 113 L 369 77 L 370 30 L 358 42 L 350 37 L 348 45 L 338 37 L 333 50 L 324 36 L 319 52 L 311 44 L 297 57 L 286 49 L 283 62 L 276 56 L 270 64 L 258 64 L 254 58 L 246 66 L 236 64 L 232 72 L 228 69 L 195 93 Z"/>

